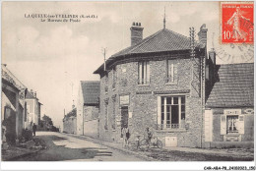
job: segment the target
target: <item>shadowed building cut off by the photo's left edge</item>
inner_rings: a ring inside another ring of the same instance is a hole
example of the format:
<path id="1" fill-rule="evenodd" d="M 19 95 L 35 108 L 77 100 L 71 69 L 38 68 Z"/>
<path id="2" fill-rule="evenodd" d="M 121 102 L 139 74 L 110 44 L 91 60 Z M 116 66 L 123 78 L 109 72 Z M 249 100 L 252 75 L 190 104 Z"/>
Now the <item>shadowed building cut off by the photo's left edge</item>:
<path id="1" fill-rule="evenodd" d="M 7 69 L 6 65 L 2 65 L 1 121 L 7 137 L 11 137 L 13 141 L 22 136 L 25 127 L 26 94 L 27 87 Z"/>

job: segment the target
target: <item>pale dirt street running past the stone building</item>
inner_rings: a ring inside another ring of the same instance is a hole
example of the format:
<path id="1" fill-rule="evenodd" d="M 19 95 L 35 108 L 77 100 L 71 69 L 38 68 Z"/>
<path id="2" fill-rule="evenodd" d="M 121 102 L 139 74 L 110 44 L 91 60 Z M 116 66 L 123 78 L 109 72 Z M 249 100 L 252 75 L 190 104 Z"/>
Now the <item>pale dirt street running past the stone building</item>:
<path id="1" fill-rule="evenodd" d="M 116 149 L 60 133 L 38 132 L 36 137 L 43 140 L 47 148 L 17 161 L 142 161 Z"/>

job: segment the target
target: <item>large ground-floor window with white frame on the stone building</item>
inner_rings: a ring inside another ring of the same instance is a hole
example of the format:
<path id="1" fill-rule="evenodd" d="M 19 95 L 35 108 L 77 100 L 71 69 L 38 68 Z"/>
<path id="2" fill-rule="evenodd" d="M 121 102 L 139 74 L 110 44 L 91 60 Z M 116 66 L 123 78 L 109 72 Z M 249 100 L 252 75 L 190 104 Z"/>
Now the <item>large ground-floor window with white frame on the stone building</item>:
<path id="1" fill-rule="evenodd" d="M 160 129 L 182 128 L 181 120 L 185 120 L 185 96 L 161 96 Z"/>

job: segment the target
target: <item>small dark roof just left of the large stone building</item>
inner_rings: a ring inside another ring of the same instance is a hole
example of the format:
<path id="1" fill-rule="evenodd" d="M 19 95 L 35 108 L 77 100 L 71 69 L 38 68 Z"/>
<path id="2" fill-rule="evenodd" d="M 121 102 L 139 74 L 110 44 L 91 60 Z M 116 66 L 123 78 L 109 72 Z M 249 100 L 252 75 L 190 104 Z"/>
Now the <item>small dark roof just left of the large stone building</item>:
<path id="1" fill-rule="evenodd" d="M 100 93 L 99 81 L 81 81 L 84 104 L 98 104 Z"/>

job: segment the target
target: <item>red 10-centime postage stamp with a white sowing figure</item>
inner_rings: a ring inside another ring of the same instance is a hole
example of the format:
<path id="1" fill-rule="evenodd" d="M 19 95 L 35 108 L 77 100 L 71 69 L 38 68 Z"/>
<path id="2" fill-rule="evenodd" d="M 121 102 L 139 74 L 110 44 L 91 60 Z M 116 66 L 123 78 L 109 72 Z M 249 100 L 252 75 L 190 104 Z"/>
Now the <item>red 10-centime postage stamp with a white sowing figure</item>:
<path id="1" fill-rule="evenodd" d="M 221 3 L 222 43 L 253 43 L 253 3 Z"/>

